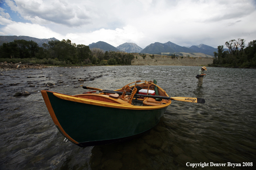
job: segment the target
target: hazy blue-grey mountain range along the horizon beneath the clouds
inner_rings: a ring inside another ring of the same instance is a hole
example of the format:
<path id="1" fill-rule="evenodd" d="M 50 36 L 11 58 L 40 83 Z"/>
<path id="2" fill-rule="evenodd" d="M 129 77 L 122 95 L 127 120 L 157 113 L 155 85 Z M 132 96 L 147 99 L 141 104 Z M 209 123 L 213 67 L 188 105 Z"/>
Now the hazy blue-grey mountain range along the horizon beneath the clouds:
<path id="1" fill-rule="evenodd" d="M 51 40 L 58 40 L 56 38 L 49 38 L 49 39 L 38 39 L 38 38 L 33 38 L 30 36 L 0 36 L 0 45 L 2 43 L 9 43 L 14 41 L 15 39 L 24 39 L 26 41 L 34 41 L 36 42 L 39 46 L 42 46 L 43 43 L 48 43 L 48 41 Z M 137 53 L 147 53 L 147 54 L 159 54 L 159 53 L 175 53 L 175 52 L 185 52 L 185 53 L 203 53 L 206 55 L 212 55 L 213 52 L 217 52 L 218 50 L 211 47 L 207 46 L 205 44 L 200 44 L 198 46 L 191 46 L 191 47 L 182 47 L 179 46 L 175 43 L 172 42 L 167 42 L 167 43 L 152 43 L 145 47 L 144 49 L 140 48 L 137 46 L 135 43 L 124 43 L 120 46 L 114 47 L 108 43 L 105 43 L 103 41 L 99 41 L 97 43 L 91 43 L 88 45 L 90 49 L 93 48 L 99 48 L 103 49 L 104 51 L 124 51 L 124 52 L 137 52 Z"/>

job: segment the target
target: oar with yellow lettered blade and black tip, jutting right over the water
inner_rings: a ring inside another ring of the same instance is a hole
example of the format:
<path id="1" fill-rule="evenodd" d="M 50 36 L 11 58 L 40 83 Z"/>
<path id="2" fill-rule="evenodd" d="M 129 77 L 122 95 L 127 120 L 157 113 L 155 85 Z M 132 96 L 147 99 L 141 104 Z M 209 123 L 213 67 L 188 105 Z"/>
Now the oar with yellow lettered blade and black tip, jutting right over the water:
<path id="1" fill-rule="evenodd" d="M 121 91 L 99 91 L 103 93 L 117 93 L 122 94 Z M 131 95 L 131 93 L 126 93 L 128 95 Z M 140 97 L 152 97 L 152 98 L 160 98 L 160 99 L 166 99 L 166 100 L 178 100 L 178 101 L 185 101 L 185 102 L 192 102 L 192 103 L 205 103 L 205 100 L 203 98 L 194 98 L 194 97 L 167 97 L 167 96 L 157 96 L 157 95 L 147 95 L 147 94 L 134 94 L 134 96 L 140 96 Z"/>

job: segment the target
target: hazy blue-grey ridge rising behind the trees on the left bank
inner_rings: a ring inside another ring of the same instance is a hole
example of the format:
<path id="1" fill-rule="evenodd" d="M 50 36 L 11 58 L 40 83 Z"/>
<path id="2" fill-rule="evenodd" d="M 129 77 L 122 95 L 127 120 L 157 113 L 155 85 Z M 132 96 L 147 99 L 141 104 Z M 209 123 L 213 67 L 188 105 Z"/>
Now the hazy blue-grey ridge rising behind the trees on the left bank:
<path id="1" fill-rule="evenodd" d="M 48 41 L 52 41 L 52 40 L 58 40 L 56 38 L 48 38 L 48 39 L 39 39 L 39 38 L 34 38 L 34 37 L 30 37 L 30 36 L 0 36 L 0 45 L 3 43 L 10 43 L 12 41 L 14 41 L 15 39 L 19 40 L 19 39 L 24 39 L 26 41 L 34 41 L 38 44 L 38 46 L 42 46 L 43 43 L 47 43 Z M 59 41 L 59 40 L 58 40 Z"/>

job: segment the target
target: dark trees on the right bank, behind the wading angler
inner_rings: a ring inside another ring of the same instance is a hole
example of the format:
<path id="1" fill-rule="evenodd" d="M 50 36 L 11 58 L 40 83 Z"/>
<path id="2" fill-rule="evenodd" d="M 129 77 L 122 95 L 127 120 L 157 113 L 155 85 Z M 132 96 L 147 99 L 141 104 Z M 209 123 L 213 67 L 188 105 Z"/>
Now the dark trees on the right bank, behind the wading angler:
<path id="1" fill-rule="evenodd" d="M 214 60 L 209 66 L 214 67 L 240 67 L 256 68 L 256 40 L 245 46 L 244 39 L 231 39 L 224 46 L 218 46 L 218 52 L 214 52 Z"/>

